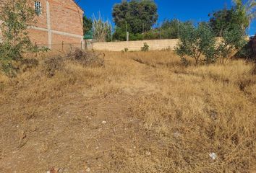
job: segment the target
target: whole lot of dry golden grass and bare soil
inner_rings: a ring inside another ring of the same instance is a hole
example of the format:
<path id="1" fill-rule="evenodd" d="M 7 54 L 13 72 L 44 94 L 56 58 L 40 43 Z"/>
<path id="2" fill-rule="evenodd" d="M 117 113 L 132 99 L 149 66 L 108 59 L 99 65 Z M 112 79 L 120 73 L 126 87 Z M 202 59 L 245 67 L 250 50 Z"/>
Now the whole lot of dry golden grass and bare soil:
<path id="1" fill-rule="evenodd" d="M 255 64 L 105 54 L 0 74 L 0 172 L 256 171 Z"/>

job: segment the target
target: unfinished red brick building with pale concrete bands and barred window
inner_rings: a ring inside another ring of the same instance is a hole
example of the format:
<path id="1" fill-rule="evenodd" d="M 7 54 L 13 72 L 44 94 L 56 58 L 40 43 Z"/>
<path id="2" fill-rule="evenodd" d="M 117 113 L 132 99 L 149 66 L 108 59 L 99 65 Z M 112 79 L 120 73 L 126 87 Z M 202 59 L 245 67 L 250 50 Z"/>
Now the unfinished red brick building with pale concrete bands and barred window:
<path id="1" fill-rule="evenodd" d="M 74 0 L 35 0 L 30 3 L 37 14 L 37 23 L 28 29 L 33 43 L 51 49 L 65 46 L 84 48 L 83 10 Z"/>

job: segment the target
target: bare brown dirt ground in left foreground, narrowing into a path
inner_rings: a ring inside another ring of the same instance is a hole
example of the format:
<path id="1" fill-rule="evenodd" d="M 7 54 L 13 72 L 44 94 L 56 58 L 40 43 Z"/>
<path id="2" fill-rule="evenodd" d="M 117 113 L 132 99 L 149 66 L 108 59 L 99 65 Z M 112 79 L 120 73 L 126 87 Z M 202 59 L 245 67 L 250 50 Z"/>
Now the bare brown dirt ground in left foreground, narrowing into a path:
<path id="1" fill-rule="evenodd" d="M 145 141 L 149 138 L 140 120 L 133 117 L 129 101 L 153 92 L 157 84 L 150 81 L 153 68 L 130 61 L 141 81 L 136 87 L 124 87 L 122 94 L 88 99 L 81 91 L 70 92 L 49 100 L 51 111 L 40 105 L 17 105 L 13 100 L 17 111 L 38 107 L 27 112 L 22 122 L 0 110 L 4 115 L 0 121 L 0 172 L 47 172 L 52 168 L 59 172 L 124 172 L 123 167 L 135 156 L 148 159 Z M 9 105 L 1 105 L 3 110 L 5 106 Z"/>

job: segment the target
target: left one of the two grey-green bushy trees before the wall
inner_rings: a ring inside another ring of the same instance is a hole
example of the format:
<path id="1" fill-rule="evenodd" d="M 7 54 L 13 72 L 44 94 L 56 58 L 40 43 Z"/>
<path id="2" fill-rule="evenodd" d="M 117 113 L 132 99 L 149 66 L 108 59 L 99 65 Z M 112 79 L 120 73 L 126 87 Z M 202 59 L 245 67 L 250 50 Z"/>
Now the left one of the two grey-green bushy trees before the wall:
<path id="1" fill-rule="evenodd" d="M 181 58 L 194 58 L 196 64 L 204 60 L 208 63 L 216 61 L 216 38 L 209 25 L 180 25 L 180 42 L 176 47 L 176 53 Z M 204 59 L 202 59 L 204 57 Z"/>

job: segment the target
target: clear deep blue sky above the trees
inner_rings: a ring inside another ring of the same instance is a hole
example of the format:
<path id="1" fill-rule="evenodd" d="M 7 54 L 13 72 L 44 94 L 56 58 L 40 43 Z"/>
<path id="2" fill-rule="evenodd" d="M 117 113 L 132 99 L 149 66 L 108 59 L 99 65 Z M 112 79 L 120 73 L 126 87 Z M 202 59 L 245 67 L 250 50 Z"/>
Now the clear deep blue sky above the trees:
<path id="1" fill-rule="evenodd" d="M 121 0 L 77 0 L 78 4 L 85 10 L 87 17 L 93 14 L 98 16 L 101 12 L 103 19 L 113 23 L 112 7 Z M 158 5 L 158 23 L 164 19 L 177 18 L 182 21 L 192 20 L 194 22 L 208 21 L 208 14 L 222 9 L 223 6 L 231 6 L 231 0 L 155 0 Z M 256 33 L 256 22 L 252 22 L 249 35 Z"/>

